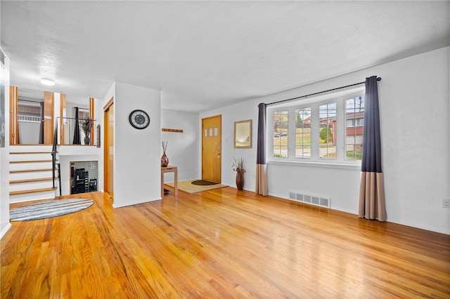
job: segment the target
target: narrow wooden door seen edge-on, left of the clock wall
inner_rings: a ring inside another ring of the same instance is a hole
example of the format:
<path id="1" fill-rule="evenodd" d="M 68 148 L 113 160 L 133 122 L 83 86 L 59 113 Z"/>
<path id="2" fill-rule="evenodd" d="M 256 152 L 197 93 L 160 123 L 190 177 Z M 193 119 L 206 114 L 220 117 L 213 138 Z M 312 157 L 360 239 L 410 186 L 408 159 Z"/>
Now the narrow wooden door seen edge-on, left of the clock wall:
<path id="1" fill-rule="evenodd" d="M 114 199 L 114 99 L 103 108 L 103 190 Z"/>

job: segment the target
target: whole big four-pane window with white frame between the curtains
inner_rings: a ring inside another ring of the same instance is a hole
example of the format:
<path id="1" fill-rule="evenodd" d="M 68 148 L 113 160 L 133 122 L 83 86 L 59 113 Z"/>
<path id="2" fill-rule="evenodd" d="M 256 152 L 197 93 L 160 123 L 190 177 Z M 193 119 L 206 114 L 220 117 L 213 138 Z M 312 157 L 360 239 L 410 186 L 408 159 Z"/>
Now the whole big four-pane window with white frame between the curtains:
<path id="1" fill-rule="evenodd" d="M 354 164 L 361 160 L 364 88 L 269 107 L 272 161 Z"/>

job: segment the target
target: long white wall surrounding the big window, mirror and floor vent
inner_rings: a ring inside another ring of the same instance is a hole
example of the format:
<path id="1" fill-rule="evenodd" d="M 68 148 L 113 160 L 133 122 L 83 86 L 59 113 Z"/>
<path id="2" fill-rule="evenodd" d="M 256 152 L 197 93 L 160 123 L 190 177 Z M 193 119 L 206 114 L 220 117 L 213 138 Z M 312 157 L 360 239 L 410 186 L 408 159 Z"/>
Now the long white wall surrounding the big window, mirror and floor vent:
<path id="1" fill-rule="evenodd" d="M 257 105 L 307 95 L 364 81 L 377 75 L 383 146 L 387 221 L 450 234 L 449 47 L 352 72 L 214 109 L 200 119 L 222 114 L 222 183 L 234 185 L 233 156 L 245 159 L 245 190 L 255 190 Z M 253 119 L 253 146 L 233 148 L 233 121 Z M 199 125 L 200 126 L 200 125 Z M 269 194 L 287 198 L 288 191 L 331 197 L 333 209 L 357 214 L 360 172 L 352 168 L 322 168 L 269 163 Z"/>

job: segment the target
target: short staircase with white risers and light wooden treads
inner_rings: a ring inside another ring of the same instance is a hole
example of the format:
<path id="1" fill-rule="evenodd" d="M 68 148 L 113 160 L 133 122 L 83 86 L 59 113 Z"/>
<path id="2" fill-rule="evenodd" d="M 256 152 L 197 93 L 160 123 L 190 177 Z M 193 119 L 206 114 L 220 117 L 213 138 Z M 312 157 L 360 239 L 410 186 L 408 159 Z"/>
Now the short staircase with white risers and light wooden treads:
<path id="1" fill-rule="evenodd" d="M 51 148 L 51 145 L 10 146 L 10 203 L 52 199 L 56 196 L 58 178 L 53 187 Z M 58 177 L 58 169 L 55 175 Z"/>

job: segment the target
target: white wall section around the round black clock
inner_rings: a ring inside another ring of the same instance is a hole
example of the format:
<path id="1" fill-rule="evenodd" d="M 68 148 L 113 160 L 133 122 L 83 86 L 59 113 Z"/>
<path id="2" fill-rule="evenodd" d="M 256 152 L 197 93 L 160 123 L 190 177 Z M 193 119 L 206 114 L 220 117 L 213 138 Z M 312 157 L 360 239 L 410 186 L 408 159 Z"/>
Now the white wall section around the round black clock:
<path id="1" fill-rule="evenodd" d="M 148 113 L 148 128 L 138 130 L 129 124 L 129 114 L 134 109 L 143 109 Z M 115 83 L 115 208 L 161 199 L 160 110 L 160 91 Z"/>

